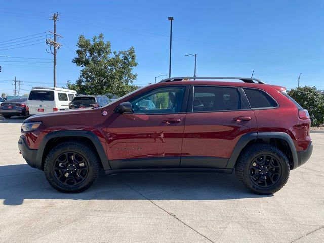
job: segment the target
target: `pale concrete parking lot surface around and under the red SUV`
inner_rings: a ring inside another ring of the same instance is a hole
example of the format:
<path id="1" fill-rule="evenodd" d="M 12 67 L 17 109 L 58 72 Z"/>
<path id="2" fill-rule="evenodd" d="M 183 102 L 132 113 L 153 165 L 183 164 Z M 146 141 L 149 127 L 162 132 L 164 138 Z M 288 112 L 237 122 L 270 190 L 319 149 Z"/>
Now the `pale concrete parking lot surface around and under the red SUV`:
<path id="1" fill-rule="evenodd" d="M 23 120 L 0 116 L 0 242 L 324 242 L 324 134 L 270 196 L 215 173 L 102 174 L 63 194 L 19 154 Z"/>

